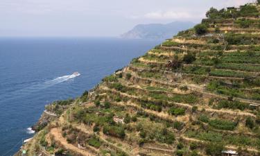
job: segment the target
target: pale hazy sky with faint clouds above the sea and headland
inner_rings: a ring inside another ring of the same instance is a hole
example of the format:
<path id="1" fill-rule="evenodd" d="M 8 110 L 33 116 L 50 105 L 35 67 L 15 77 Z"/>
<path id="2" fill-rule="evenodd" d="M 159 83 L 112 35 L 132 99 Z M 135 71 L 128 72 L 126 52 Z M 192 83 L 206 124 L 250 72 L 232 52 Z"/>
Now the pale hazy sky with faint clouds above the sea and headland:
<path id="1" fill-rule="evenodd" d="M 0 37 L 116 37 L 137 24 L 199 23 L 252 0 L 1 0 Z"/>

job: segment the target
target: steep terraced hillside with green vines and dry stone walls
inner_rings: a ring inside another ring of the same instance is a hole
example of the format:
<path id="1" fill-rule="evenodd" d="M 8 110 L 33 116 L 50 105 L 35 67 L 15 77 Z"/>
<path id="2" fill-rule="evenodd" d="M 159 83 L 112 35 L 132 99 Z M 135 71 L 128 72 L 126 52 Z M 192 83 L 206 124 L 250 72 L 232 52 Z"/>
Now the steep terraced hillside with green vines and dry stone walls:
<path id="1" fill-rule="evenodd" d="M 28 155 L 259 155 L 259 10 L 254 3 L 211 8 L 201 24 L 83 96 L 48 105 L 56 116 L 35 125 L 39 132 L 22 149 Z"/>

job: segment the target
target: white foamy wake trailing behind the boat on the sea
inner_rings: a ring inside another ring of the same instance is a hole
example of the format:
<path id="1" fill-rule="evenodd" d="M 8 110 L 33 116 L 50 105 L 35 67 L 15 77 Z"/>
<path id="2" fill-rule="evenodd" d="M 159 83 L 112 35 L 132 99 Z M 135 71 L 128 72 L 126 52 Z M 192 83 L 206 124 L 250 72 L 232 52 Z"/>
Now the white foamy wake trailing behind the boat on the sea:
<path id="1" fill-rule="evenodd" d="M 68 76 L 61 76 L 58 78 L 54 78 L 53 80 L 48 80 L 44 83 L 38 83 L 36 85 L 32 85 L 30 87 L 25 87 L 23 89 L 18 89 L 15 92 L 10 92 L 8 94 L 3 94 L 0 96 L 0 101 L 8 101 L 9 98 L 21 98 L 24 96 L 28 96 L 30 94 L 32 94 L 33 92 L 38 92 L 42 89 L 46 89 L 48 87 L 51 87 L 53 85 L 56 85 L 58 83 L 63 83 L 67 80 L 76 78 L 79 75 L 75 75 L 75 74 L 71 74 Z"/>

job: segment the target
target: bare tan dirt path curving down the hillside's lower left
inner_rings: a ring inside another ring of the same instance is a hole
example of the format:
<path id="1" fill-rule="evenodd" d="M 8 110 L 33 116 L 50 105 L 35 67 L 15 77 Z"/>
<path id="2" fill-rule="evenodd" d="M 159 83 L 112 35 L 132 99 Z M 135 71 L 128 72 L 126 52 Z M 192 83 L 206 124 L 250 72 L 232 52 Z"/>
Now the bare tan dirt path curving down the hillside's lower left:
<path id="1" fill-rule="evenodd" d="M 81 150 L 80 148 L 77 148 L 76 146 L 73 146 L 72 144 L 68 144 L 67 140 L 64 137 L 62 137 L 60 129 L 53 128 L 53 129 L 51 129 L 50 134 L 53 136 L 55 141 L 60 142 L 60 144 L 62 144 L 62 146 L 64 146 L 68 150 L 72 150 L 72 151 L 79 153 L 80 155 L 84 155 L 84 156 L 94 156 L 94 155 L 92 155 L 92 153 L 89 153 L 86 150 Z"/>

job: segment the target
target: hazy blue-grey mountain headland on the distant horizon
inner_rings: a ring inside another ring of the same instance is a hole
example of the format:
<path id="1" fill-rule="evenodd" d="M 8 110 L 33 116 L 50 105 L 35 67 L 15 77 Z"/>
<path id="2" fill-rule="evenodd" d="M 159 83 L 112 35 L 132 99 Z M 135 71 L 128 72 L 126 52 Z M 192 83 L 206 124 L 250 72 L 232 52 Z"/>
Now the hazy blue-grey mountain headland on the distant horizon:
<path id="1" fill-rule="evenodd" d="M 130 39 L 166 39 L 194 25 L 191 21 L 174 21 L 170 24 L 139 24 L 132 28 L 131 31 L 121 35 L 121 37 Z"/>

